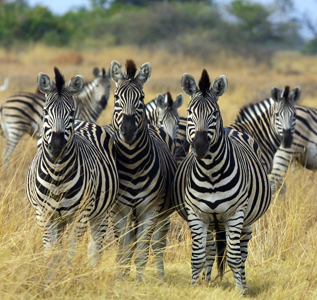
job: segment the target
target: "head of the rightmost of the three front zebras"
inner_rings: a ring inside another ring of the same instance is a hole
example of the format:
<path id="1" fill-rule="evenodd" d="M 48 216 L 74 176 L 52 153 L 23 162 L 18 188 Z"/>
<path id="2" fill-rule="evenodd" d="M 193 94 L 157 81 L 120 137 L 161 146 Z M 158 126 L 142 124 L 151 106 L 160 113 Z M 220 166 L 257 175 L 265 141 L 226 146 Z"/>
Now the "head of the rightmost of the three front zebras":
<path id="1" fill-rule="evenodd" d="M 209 75 L 204 69 L 198 86 L 191 75 L 183 75 L 183 90 L 191 98 L 187 105 L 186 138 L 194 156 L 204 158 L 223 131 L 217 100 L 227 90 L 227 79 L 224 75 L 219 76 L 210 89 Z"/>

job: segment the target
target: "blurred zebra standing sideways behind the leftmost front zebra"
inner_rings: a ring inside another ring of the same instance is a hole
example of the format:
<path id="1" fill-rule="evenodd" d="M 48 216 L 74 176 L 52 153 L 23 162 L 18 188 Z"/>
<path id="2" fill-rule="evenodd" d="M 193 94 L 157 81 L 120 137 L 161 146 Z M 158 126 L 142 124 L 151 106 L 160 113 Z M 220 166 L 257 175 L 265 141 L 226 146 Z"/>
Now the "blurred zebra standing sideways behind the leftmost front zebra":
<path id="1" fill-rule="evenodd" d="M 75 118 L 96 123 L 105 109 L 110 90 L 110 74 L 105 69 L 94 68 L 95 79 L 83 85 L 74 95 Z M 1 129 L 6 139 L 3 149 L 3 165 L 7 164 L 21 138 L 26 134 L 39 137 L 45 95 L 16 93 L 5 98 L 0 107 Z"/>

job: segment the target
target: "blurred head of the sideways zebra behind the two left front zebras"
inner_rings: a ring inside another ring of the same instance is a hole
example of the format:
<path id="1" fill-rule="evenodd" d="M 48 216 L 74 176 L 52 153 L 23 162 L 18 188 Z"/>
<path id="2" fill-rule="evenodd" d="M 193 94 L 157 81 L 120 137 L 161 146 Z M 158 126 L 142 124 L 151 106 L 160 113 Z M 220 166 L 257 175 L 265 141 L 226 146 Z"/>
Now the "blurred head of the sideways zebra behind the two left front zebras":
<path id="1" fill-rule="evenodd" d="M 106 73 L 104 68 L 99 70 L 97 67 L 95 67 L 93 73 L 95 79 L 92 81 L 92 86 L 95 99 L 98 99 L 101 108 L 105 109 L 110 93 L 110 70 L 108 73 Z"/>

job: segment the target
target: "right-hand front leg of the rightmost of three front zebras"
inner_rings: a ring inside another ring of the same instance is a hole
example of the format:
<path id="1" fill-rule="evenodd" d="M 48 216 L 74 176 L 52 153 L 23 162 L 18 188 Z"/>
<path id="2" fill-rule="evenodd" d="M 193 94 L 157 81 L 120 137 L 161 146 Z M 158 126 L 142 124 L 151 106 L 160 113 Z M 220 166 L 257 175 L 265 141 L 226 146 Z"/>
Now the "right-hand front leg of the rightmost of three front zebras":
<path id="1" fill-rule="evenodd" d="M 233 272 L 233 277 L 236 280 L 236 286 L 239 290 L 242 289 L 241 267 L 242 257 L 240 250 L 241 230 L 243 226 L 244 213 L 239 210 L 230 217 L 225 223 L 226 228 L 226 241 L 227 241 L 227 262 Z"/>

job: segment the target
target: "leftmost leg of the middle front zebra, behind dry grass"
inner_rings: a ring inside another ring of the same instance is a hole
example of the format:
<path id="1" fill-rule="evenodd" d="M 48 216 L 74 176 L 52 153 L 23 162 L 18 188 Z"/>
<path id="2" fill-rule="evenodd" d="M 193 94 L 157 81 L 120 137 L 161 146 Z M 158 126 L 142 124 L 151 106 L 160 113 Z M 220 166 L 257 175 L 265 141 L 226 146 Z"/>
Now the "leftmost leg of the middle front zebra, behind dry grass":
<path id="1" fill-rule="evenodd" d="M 118 277 L 122 278 L 130 271 L 130 268 L 126 267 L 126 265 L 131 262 L 134 252 L 135 231 L 132 229 L 132 221 L 129 216 L 122 216 L 122 214 L 112 215 L 112 223 L 114 235 L 119 240 L 116 262 L 122 268 L 122 271 L 118 272 Z"/>

